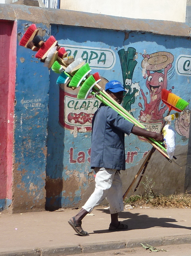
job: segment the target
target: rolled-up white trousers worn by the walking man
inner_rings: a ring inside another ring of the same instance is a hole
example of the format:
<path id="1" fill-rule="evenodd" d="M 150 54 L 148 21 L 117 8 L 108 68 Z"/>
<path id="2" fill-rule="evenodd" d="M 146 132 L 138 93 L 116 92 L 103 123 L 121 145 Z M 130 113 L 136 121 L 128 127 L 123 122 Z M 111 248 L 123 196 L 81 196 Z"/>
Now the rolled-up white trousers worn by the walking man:
<path id="1" fill-rule="evenodd" d="M 121 212 L 123 194 L 119 172 L 116 169 L 104 167 L 96 167 L 94 171 L 96 172 L 95 190 L 82 208 L 91 213 L 94 207 L 106 198 L 110 205 L 110 214 Z"/>

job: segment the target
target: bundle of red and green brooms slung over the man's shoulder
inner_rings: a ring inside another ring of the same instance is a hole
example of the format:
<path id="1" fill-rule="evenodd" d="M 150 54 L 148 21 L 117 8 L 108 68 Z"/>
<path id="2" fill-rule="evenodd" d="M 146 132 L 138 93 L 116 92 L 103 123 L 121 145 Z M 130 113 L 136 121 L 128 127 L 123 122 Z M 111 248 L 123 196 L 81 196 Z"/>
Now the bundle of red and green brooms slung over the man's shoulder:
<path id="1" fill-rule="evenodd" d="M 46 63 L 48 68 L 52 68 L 55 73 L 60 73 L 60 76 L 57 80 L 57 84 L 65 84 L 68 79 L 70 80 L 68 86 L 72 89 L 76 89 L 81 86 L 77 98 L 78 99 L 86 99 L 88 95 L 91 93 L 94 97 L 100 100 L 107 106 L 110 106 L 115 111 L 118 112 L 120 116 L 123 116 L 124 119 L 132 122 L 138 127 L 145 129 L 144 125 L 137 121 L 127 110 L 125 110 L 118 102 L 113 100 L 101 86 L 99 86 L 98 82 L 101 80 L 99 77 L 99 73 L 95 73 L 90 75 L 92 71 L 89 67 L 89 64 L 83 62 L 81 58 L 74 60 L 73 57 L 67 57 L 67 52 L 64 47 L 60 48 L 58 46 L 58 41 L 55 40 L 53 36 L 51 36 L 46 42 L 42 41 L 42 38 L 36 38 L 37 43 L 35 42 L 35 37 L 37 37 L 38 30 L 35 24 L 29 26 L 28 30 L 26 30 L 23 38 L 21 39 L 19 45 L 30 48 L 32 50 L 37 51 L 35 57 L 41 59 L 42 62 Z M 38 40 L 40 42 L 38 42 Z M 32 48 L 31 46 L 34 47 Z M 68 62 L 68 60 L 71 60 Z M 182 99 L 181 99 L 182 100 Z M 186 108 L 188 102 L 185 103 L 184 100 L 178 102 L 178 109 L 183 110 Z M 155 149 L 157 149 L 167 160 L 170 160 L 170 157 L 167 155 L 167 150 L 163 146 L 161 142 L 157 142 L 152 138 L 145 138 Z"/>

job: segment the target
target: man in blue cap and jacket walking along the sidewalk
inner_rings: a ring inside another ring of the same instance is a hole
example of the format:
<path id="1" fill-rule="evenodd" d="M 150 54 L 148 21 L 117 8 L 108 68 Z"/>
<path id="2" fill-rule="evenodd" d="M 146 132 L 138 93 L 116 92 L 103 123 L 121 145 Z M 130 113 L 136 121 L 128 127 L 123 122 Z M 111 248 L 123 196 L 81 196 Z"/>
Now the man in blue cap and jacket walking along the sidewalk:
<path id="1" fill-rule="evenodd" d="M 123 85 L 112 80 L 105 85 L 105 91 L 119 104 L 123 100 Z M 81 236 L 88 232 L 81 227 L 82 219 L 91 213 L 105 198 L 110 205 L 110 231 L 125 230 L 127 225 L 118 221 L 118 213 L 123 211 L 122 182 L 120 170 L 125 170 L 125 133 L 163 141 L 163 135 L 135 126 L 115 110 L 101 103 L 92 120 L 91 168 L 96 172 L 95 190 L 82 209 L 68 223 Z"/>

